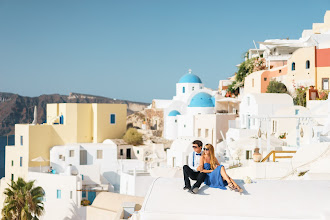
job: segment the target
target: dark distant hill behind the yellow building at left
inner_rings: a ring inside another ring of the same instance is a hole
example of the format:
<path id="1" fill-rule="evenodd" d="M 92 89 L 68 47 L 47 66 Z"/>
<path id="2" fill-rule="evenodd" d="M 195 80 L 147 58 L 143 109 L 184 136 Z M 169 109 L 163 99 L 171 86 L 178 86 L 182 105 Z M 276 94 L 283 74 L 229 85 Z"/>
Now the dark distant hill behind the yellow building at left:
<path id="1" fill-rule="evenodd" d="M 116 103 L 127 104 L 127 115 L 141 111 L 148 103 L 117 100 L 101 96 L 79 93 L 67 95 L 41 95 L 25 97 L 13 93 L 0 92 L 0 136 L 15 134 L 15 124 L 31 123 L 34 106 L 38 108 L 38 123 L 46 120 L 46 105 L 48 103 Z"/>

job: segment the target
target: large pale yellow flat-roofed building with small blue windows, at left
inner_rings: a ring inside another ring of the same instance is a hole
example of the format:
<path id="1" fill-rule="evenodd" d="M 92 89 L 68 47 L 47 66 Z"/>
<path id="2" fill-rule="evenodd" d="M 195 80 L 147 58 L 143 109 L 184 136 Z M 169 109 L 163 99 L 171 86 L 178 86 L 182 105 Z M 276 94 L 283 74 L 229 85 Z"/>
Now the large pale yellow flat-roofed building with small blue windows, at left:
<path id="1" fill-rule="evenodd" d="M 40 165 L 31 160 L 39 156 L 49 160 L 49 150 L 55 145 L 122 138 L 126 116 L 125 104 L 47 104 L 46 123 L 15 125 L 15 146 L 6 147 L 6 181 L 26 178 L 29 167 Z"/>

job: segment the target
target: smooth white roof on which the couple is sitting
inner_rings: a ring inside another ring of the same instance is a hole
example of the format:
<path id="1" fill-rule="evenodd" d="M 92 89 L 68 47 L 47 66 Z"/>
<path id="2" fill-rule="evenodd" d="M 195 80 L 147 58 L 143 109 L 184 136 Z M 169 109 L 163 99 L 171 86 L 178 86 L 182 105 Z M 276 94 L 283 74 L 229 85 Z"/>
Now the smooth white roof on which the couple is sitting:
<path id="1" fill-rule="evenodd" d="M 181 178 L 157 178 L 149 188 L 140 220 L 324 219 L 330 216 L 330 181 L 263 180 L 244 184 L 240 195 L 202 184 L 184 191 Z"/>

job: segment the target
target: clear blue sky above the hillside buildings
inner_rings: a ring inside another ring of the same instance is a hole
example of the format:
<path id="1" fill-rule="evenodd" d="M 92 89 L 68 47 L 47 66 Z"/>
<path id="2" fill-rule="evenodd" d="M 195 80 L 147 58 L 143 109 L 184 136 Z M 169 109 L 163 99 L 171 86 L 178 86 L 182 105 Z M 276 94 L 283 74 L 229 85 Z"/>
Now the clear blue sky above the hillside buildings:
<path id="1" fill-rule="evenodd" d="M 329 0 L 0 0 L 0 91 L 170 99 L 191 68 L 216 89 L 253 40 L 301 36 Z"/>

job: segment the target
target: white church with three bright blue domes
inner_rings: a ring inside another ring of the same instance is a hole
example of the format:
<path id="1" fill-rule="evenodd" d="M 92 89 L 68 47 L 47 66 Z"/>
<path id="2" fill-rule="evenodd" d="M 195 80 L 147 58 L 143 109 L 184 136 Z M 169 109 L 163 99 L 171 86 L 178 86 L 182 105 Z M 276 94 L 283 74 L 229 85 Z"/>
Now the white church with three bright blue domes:
<path id="1" fill-rule="evenodd" d="M 175 140 L 177 137 L 194 136 L 194 115 L 215 113 L 216 93 L 204 88 L 201 79 L 191 70 L 182 76 L 172 100 L 155 100 L 164 106 L 164 138 Z"/>

